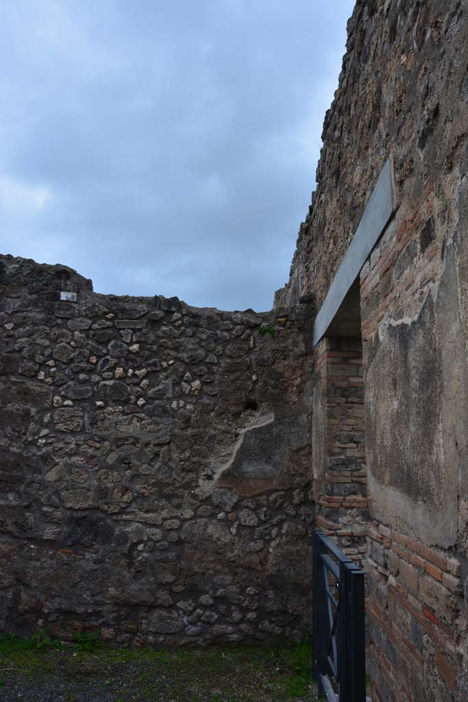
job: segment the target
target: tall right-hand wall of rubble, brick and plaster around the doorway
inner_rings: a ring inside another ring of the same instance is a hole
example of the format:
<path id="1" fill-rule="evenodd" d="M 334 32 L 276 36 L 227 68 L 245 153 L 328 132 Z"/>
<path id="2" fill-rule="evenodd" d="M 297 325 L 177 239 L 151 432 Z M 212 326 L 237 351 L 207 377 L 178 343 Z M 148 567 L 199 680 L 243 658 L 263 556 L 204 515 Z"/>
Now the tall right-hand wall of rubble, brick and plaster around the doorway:
<path id="1" fill-rule="evenodd" d="M 468 699 L 467 16 L 467 0 L 357 0 L 316 192 L 276 296 L 320 310 L 392 155 L 396 215 L 361 272 L 367 499 L 381 537 L 368 537 L 366 560 L 377 702 Z M 345 536 L 368 527 L 356 519 L 359 473 L 330 463 L 362 449 L 342 440 L 346 404 L 333 392 L 345 381 L 332 368 L 349 360 L 335 351 L 316 348 L 317 524 L 359 550 L 363 538 Z"/>

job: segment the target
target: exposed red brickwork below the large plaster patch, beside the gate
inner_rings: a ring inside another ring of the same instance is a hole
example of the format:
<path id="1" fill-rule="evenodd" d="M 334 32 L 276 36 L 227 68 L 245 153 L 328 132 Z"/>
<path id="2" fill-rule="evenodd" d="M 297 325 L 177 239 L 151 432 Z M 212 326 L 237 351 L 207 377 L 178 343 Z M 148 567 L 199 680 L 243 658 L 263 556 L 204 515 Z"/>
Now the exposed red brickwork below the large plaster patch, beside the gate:
<path id="1" fill-rule="evenodd" d="M 460 563 L 374 522 L 366 569 L 373 702 L 420 702 L 429 686 L 439 700 L 453 699 Z"/>

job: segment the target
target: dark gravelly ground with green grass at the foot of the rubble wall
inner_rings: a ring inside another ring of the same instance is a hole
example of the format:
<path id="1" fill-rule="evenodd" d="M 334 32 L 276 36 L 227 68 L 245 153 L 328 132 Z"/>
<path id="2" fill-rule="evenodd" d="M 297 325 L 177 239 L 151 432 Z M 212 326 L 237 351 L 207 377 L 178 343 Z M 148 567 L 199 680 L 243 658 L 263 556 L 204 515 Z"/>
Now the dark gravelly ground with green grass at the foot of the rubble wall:
<path id="1" fill-rule="evenodd" d="M 1 702 L 316 702 L 310 644 L 115 649 L 0 636 Z"/>

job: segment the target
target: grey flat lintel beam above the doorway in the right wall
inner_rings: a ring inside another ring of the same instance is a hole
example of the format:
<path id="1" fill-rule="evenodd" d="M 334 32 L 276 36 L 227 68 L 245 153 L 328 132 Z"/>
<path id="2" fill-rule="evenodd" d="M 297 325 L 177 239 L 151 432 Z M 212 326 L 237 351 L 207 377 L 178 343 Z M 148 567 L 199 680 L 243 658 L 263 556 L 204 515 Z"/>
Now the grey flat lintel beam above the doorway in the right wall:
<path id="1" fill-rule="evenodd" d="M 389 157 L 382 168 L 361 221 L 354 232 L 333 283 L 328 290 L 314 324 L 314 344 L 326 336 L 328 327 L 352 284 L 356 280 L 370 252 L 394 213 L 393 164 Z"/>

